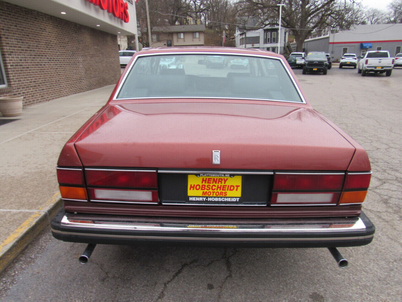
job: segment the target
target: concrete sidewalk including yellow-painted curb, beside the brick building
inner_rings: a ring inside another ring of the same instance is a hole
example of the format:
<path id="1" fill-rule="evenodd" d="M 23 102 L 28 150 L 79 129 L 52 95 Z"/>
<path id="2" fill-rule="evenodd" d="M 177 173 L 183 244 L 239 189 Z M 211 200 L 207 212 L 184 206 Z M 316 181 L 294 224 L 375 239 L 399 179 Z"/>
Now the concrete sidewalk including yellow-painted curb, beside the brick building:
<path id="1" fill-rule="evenodd" d="M 102 107 L 114 85 L 23 109 L 0 122 L 0 272 L 61 206 L 56 164 L 66 141 Z M 18 119 L 18 120 L 15 120 Z"/>

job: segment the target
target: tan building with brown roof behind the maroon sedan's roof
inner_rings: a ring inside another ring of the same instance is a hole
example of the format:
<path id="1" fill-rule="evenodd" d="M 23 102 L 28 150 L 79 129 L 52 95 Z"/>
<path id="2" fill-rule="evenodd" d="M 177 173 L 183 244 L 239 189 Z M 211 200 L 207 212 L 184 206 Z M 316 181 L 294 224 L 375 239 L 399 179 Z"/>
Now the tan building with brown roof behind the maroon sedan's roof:
<path id="1" fill-rule="evenodd" d="M 204 24 L 156 26 L 151 47 L 203 46 L 204 32 Z"/>

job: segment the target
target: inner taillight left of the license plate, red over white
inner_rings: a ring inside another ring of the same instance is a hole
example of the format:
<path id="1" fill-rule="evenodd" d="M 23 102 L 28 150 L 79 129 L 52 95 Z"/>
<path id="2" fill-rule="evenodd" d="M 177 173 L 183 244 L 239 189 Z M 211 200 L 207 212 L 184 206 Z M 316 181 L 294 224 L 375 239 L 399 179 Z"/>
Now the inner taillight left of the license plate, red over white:
<path id="1" fill-rule="evenodd" d="M 158 203 L 156 170 L 85 169 L 90 201 Z"/>

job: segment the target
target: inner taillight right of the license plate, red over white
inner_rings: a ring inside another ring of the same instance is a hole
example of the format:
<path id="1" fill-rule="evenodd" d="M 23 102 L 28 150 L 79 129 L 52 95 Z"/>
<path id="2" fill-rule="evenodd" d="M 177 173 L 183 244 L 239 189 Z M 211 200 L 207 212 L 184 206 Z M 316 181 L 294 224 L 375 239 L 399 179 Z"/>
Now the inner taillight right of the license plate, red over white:
<path id="1" fill-rule="evenodd" d="M 336 205 L 344 177 L 336 172 L 276 172 L 271 205 Z"/>

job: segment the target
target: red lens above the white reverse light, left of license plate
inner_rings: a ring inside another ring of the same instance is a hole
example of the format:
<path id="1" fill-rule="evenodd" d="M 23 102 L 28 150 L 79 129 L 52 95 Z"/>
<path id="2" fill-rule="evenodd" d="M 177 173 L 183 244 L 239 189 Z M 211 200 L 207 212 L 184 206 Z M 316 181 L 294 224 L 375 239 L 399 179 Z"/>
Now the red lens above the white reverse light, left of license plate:
<path id="1" fill-rule="evenodd" d="M 156 188 L 156 171 L 147 170 L 97 170 L 85 169 L 87 186 L 112 186 L 124 188 Z"/>

